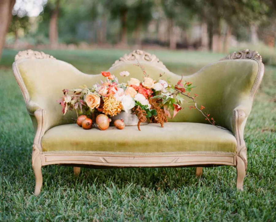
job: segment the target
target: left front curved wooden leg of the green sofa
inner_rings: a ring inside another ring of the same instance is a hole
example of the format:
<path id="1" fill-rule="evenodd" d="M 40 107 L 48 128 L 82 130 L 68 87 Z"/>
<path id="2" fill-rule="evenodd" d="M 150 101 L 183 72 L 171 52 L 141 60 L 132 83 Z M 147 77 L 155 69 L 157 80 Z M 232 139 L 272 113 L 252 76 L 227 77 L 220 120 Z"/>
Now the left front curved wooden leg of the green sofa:
<path id="1" fill-rule="evenodd" d="M 39 150 L 35 145 L 33 145 L 32 166 L 33 166 L 34 175 L 36 177 L 36 187 L 35 187 L 34 195 L 38 196 L 40 194 L 42 181 L 43 181 L 42 172 L 41 172 L 42 158 L 41 158 L 41 153 L 39 152 Z"/>

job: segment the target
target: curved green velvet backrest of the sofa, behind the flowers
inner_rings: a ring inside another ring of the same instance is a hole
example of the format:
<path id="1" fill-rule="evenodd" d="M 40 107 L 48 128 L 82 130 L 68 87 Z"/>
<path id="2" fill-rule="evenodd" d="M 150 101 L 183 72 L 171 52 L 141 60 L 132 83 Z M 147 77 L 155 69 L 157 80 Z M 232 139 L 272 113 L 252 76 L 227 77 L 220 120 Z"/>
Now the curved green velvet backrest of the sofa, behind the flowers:
<path id="1" fill-rule="evenodd" d="M 197 106 L 205 106 L 205 112 L 210 113 L 217 123 L 230 130 L 232 130 L 233 111 L 230 109 L 242 103 L 248 114 L 251 111 L 255 94 L 252 88 L 258 78 L 261 64 L 255 57 L 255 54 L 251 55 L 251 59 L 227 57 L 223 61 L 202 68 L 193 75 L 183 77 L 184 81 L 192 82 L 196 86 L 192 95 L 199 95 L 196 98 Z M 155 55 L 141 50 L 121 57 L 108 71 L 115 75 L 119 82 L 126 82 L 131 77 L 142 80 L 143 72 L 136 66 L 138 61 L 152 79 L 157 80 L 162 74 L 164 80 L 169 78 L 171 84 L 176 84 L 181 78 L 170 72 Z M 61 107 L 56 102 L 63 96 L 63 89 L 78 88 L 83 84 L 90 87 L 104 80 L 101 74 L 84 74 L 64 61 L 32 50 L 17 54 L 13 70 L 29 114 L 32 116 L 36 109 L 45 109 L 46 130 L 57 125 L 72 123 L 74 121 L 72 118 L 76 118 L 76 113 L 71 111 L 63 116 Z M 130 72 L 130 76 L 123 78 L 119 73 L 125 70 Z M 169 121 L 207 123 L 200 112 L 188 108 L 190 105 L 192 104 L 187 103 L 185 108 Z"/>

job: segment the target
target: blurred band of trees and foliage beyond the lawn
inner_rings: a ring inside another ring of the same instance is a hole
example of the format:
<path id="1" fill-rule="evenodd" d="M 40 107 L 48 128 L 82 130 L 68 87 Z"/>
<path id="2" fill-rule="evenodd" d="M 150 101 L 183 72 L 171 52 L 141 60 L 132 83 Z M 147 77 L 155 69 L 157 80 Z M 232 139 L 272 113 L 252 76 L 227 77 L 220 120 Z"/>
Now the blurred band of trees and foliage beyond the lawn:
<path id="1" fill-rule="evenodd" d="M 252 46 L 276 65 L 274 0 L 2 0 L 0 10 L 11 16 L 0 48 L 229 53 Z"/>

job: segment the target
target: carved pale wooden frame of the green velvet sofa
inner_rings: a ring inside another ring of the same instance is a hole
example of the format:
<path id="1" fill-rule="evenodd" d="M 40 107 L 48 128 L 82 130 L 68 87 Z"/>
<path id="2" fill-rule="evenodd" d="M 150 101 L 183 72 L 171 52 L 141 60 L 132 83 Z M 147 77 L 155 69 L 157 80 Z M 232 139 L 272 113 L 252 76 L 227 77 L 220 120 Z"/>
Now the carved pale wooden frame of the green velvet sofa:
<path id="1" fill-rule="evenodd" d="M 28 112 L 34 122 L 34 128 L 36 129 L 36 135 L 33 142 L 33 153 L 32 153 L 32 166 L 36 178 L 36 185 L 34 194 L 40 194 L 42 187 L 42 173 L 41 167 L 52 164 L 63 164 L 63 165 L 75 165 L 74 172 L 79 174 L 80 166 L 93 165 L 97 167 L 171 167 L 171 166 L 197 166 L 196 175 L 202 175 L 202 167 L 207 165 L 230 165 L 237 169 L 237 180 L 236 187 L 238 190 L 243 190 L 243 179 L 246 175 L 247 169 L 247 149 L 243 139 L 243 131 L 248 115 L 239 108 L 232 111 L 232 128 L 233 134 L 237 140 L 236 154 L 201 154 L 201 153 L 186 153 L 186 154 L 168 154 L 168 155 L 135 155 L 135 154 L 90 154 L 90 153 L 68 153 L 68 152 L 43 152 L 41 146 L 41 139 L 45 133 L 46 119 L 45 110 L 36 108 L 32 113 L 30 107 L 31 98 L 27 87 L 25 86 L 24 80 L 21 77 L 20 70 L 17 63 L 26 59 L 55 59 L 54 57 L 44 54 L 43 52 L 35 52 L 32 50 L 22 51 L 15 57 L 13 63 L 13 72 L 17 83 L 22 91 Z M 233 53 L 223 58 L 224 60 L 241 60 L 248 59 L 254 60 L 258 64 L 258 73 L 255 78 L 254 85 L 251 89 L 249 98 L 253 101 L 255 93 L 261 83 L 264 65 L 262 63 L 261 56 L 256 51 L 243 50 L 238 53 Z M 161 70 L 168 71 L 162 62 L 155 57 L 141 50 L 133 51 L 132 53 L 121 57 L 117 60 L 113 66 L 109 69 L 118 67 L 129 61 L 139 60 L 150 65 L 158 66 Z M 62 89 L 61 89 L 62 90 Z M 53 101 L 55 102 L 55 101 Z M 36 121 L 35 121 L 36 120 Z M 37 126 L 35 123 L 37 122 Z M 166 127 L 166 125 L 165 125 Z"/>

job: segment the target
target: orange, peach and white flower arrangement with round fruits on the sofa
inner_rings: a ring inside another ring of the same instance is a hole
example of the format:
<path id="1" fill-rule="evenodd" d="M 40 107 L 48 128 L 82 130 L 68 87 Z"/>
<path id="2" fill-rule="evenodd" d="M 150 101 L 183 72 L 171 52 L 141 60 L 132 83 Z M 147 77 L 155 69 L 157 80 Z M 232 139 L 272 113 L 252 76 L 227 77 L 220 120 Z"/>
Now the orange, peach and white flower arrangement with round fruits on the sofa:
<path id="1" fill-rule="evenodd" d="M 186 98 L 188 98 L 193 103 L 189 108 L 197 109 L 205 117 L 205 120 L 215 125 L 215 120 L 210 118 L 210 114 L 203 113 L 204 106 L 201 105 L 200 108 L 197 108 L 195 98 L 198 95 L 191 96 L 191 91 L 195 87 L 192 86 L 192 83 L 183 81 L 181 77 L 177 84 L 170 85 L 169 80 L 163 80 L 161 74 L 159 80 L 153 80 L 139 62 L 137 66 L 143 71 L 143 82 L 130 78 L 127 83 L 119 83 L 118 79 L 110 72 L 102 72 L 105 81 L 101 81 L 101 84 L 97 83 L 91 88 L 83 85 L 78 89 L 64 89 L 64 96 L 57 101 L 62 106 L 63 114 L 65 115 L 68 110 L 76 110 L 79 120 L 77 123 L 83 128 L 89 129 L 92 128 L 92 120 L 87 116 L 93 118 L 94 115 L 103 114 L 97 118 L 106 123 L 106 119 L 109 120 L 107 116 L 113 117 L 124 110 L 136 114 L 139 119 L 138 129 L 140 130 L 140 123 L 146 121 L 159 123 L 163 127 L 167 118 L 171 118 L 169 111 L 173 110 L 174 118 L 183 109 L 182 105 L 187 102 Z M 120 75 L 125 77 L 129 76 L 130 73 L 123 71 L 120 72 Z M 86 115 L 79 116 L 79 114 Z M 106 116 L 105 119 L 102 117 L 104 115 Z M 83 120 L 86 121 L 83 122 Z M 108 126 L 109 121 L 107 121 Z M 119 122 L 117 121 L 117 125 L 119 124 L 120 129 L 123 129 L 124 120 Z M 106 125 L 101 127 L 100 124 L 97 122 L 100 129 L 108 128 L 108 126 L 105 127 Z"/>

